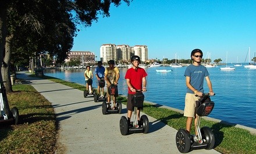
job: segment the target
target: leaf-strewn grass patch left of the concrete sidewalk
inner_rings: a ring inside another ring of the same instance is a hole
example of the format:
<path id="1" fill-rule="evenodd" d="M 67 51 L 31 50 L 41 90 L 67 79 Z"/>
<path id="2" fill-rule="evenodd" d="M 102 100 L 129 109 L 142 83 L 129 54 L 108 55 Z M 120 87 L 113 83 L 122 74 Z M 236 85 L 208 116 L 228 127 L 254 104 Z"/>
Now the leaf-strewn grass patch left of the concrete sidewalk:
<path id="1" fill-rule="evenodd" d="M 30 85 L 14 85 L 10 109 L 19 109 L 20 124 L 0 127 L 0 153 L 55 153 L 58 124 L 51 103 Z"/>

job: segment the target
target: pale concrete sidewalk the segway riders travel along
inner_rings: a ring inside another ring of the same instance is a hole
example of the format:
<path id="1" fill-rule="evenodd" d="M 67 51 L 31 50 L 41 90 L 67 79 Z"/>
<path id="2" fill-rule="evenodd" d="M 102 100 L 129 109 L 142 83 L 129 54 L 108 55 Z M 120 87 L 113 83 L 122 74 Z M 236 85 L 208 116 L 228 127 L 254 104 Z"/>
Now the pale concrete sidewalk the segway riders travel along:
<path id="1" fill-rule="evenodd" d="M 83 91 L 50 80 L 29 78 L 24 72 L 19 72 L 17 78 L 26 79 L 52 103 L 59 122 L 56 153 L 180 153 L 175 143 L 177 130 L 151 116 L 147 115 L 150 120 L 147 134 L 123 136 L 119 120 L 127 116 L 125 105 L 122 114 L 102 115 L 102 102 L 84 98 Z M 190 153 L 219 152 L 201 149 Z"/>

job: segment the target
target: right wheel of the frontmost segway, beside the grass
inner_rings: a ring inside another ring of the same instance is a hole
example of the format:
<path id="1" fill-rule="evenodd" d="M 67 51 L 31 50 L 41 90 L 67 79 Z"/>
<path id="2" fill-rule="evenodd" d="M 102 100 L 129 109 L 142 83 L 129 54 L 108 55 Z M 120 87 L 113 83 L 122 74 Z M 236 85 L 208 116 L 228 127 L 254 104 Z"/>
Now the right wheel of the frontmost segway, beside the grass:
<path id="1" fill-rule="evenodd" d="M 208 142 L 208 145 L 205 149 L 210 150 L 214 148 L 215 145 L 215 137 L 214 133 L 209 127 L 202 127 L 201 128 L 202 139 L 205 139 Z"/>

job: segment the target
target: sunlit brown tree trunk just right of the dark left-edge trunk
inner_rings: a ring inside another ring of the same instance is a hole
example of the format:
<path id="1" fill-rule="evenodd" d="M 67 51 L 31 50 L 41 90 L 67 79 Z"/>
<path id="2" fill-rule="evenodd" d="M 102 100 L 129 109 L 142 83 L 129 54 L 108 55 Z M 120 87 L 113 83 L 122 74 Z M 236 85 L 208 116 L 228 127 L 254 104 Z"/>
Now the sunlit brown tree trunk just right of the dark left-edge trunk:
<path id="1" fill-rule="evenodd" d="M 11 56 L 11 42 L 12 42 L 13 34 L 6 37 L 5 39 L 5 56 L 3 57 L 3 65 L 2 65 L 2 77 L 3 77 L 3 85 L 5 85 L 5 89 L 7 93 L 13 92 L 12 83 L 10 82 L 10 56 Z"/>

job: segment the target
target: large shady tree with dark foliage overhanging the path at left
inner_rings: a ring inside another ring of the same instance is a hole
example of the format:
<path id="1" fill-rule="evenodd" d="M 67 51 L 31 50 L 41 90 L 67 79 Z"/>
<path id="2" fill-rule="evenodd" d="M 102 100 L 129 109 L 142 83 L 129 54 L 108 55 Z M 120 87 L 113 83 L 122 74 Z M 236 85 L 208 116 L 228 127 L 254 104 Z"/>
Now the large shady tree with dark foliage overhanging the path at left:
<path id="1" fill-rule="evenodd" d="M 123 1 L 126 2 L 127 5 L 130 3 L 129 0 Z M 29 43 L 27 42 L 28 45 L 26 47 L 23 46 L 24 48 L 30 49 L 31 47 L 31 49 L 35 49 L 34 52 L 36 54 L 44 52 L 56 54 L 56 59 L 61 61 L 67 56 L 68 52 L 66 51 L 70 50 L 73 46 L 73 37 L 70 36 L 74 33 L 66 28 L 71 28 L 71 30 L 76 32 L 77 29 L 72 29 L 72 25 L 75 27 L 77 24 L 83 24 L 85 27 L 88 27 L 91 26 L 93 21 L 98 20 L 99 14 L 102 14 L 104 17 L 109 17 L 109 7 L 111 3 L 115 6 L 119 6 L 121 0 L 0 0 L 0 63 L 4 64 L 3 67 L 0 65 L 1 89 L 4 87 L 2 84 L 2 73 L 5 78 L 10 79 L 8 66 L 11 60 L 10 52 L 12 52 L 12 44 L 15 44 L 13 39 L 19 38 L 17 28 L 20 28 L 20 30 L 24 32 L 21 38 L 24 38 L 28 42 L 30 41 Z M 10 14 L 8 14 L 8 10 L 12 10 L 9 12 Z M 67 17 L 69 22 L 63 22 Z M 61 21 L 59 19 L 61 19 Z M 15 25 L 17 23 L 13 24 L 15 21 L 19 24 L 21 23 L 21 25 L 18 24 L 19 26 L 16 27 Z M 54 24 L 51 22 L 54 22 Z M 51 25 L 51 27 L 48 25 Z M 51 28 L 57 31 L 52 31 Z M 26 32 L 31 32 L 33 35 L 25 35 L 27 34 Z M 54 33 L 52 34 L 51 32 Z M 56 43 L 54 40 L 59 43 Z M 16 49 L 18 49 L 18 47 L 16 47 Z M 20 53 L 20 51 L 24 52 L 23 50 L 17 50 L 17 53 Z M 29 55 L 31 54 L 30 52 Z M 4 58 L 5 61 L 3 61 Z M 2 70 L 2 68 L 4 69 Z M 10 111 L 6 93 L 2 94 L 3 103 L 5 104 L 4 111 L 9 116 Z"/>

